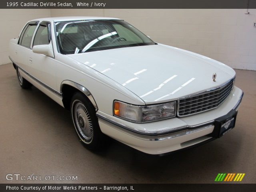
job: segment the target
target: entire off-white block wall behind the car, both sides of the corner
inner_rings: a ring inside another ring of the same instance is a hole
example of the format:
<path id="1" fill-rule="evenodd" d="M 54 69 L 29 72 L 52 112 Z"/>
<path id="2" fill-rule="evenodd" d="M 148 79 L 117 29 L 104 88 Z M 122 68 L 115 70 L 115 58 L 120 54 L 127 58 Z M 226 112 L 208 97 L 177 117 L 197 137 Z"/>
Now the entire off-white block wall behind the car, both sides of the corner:
<path id="1" fill-rule="evenodd" d="M 0 43 L 7 46 L 26 20 L 45 16 L 107 16 L 122 18 L 155 42 L 219 60 L 232 68 L 256 70 L 256 9 L 51 9 L 1 10 Z M 18 17 L 16 17 L 16 12 Z M 24 15 L 22 15 L 24 14 Z M 6 20 L 9 16 L 10 19 Z M 18 18 L 19 20 L 16 20 Z M 12 24 L 8 21 L 12 20 Z M 13 26 L 13 25 L 19 26 Z M 14 29 L 15 28 L 15 29 Z M 4 30 L 2 32 L 2 30 Z M 0 58 L 7 58 L 6 48 Z M 9 60 L 1 60 L 0 64 Z"/>

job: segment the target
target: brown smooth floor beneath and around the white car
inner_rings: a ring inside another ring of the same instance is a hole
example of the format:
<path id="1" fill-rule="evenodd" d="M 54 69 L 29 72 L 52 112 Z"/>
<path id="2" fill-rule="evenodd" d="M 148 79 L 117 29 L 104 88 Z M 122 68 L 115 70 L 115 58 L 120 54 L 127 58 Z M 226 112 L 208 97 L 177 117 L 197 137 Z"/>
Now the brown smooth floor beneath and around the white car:
<path id="1" fill-rule="evenodd" d="M 36 88 L 22 90 L 0 66 L 0 183 L 213 183 L 218 173 L 256 182 L 256 71 L 236 70 L 244 91 L 236 127 L 220 139 L 168 156 L 118 142 L 101 152 L 80 144 L 67 110 Z M 7 181 L 6 174 L 74 175 L 77 181 Z"/>

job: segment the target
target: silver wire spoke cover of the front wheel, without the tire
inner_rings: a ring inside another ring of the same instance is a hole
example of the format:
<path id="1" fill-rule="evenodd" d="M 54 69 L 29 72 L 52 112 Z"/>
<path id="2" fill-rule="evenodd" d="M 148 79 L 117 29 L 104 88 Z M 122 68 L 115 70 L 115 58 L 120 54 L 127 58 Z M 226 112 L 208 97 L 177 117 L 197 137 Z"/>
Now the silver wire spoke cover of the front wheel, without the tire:
<path id="1" fill-rule="evenodd" d="M 76 124 L 77 130 L 79 134 L 85 140 L 92 140 L 93 136 L 93 127 L 92 127 L 92 120 L 90 114 L 84 104 L 79 100 L 75 100 L 73 102 L 73 116 L 74 122 Z"/>

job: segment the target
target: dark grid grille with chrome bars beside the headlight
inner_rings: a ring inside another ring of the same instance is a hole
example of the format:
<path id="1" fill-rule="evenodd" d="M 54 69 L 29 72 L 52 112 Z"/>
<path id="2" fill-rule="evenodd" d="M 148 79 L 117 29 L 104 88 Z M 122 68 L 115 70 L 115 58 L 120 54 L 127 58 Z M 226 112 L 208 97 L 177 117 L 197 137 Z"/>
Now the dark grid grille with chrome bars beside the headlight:
<path id="1" fill-rule="evenodd" d="M 230 94 L 233 80 L 215 90 L 178 100 L 178 116 L 188 116 L 218 107 Z"/>

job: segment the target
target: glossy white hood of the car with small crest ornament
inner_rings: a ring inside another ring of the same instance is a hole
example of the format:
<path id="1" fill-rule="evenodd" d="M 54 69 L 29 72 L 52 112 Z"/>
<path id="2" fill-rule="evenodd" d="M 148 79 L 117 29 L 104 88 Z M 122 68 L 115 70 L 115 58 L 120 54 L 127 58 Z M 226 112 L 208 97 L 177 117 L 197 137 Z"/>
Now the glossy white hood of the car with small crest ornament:
<path id="1" fill-rule="evenodd" d="M 234 70 L 221 62 L 162 44 L 68 56 L 118 82 L 146 104 L 215 88 L 235 76 Z"/>

